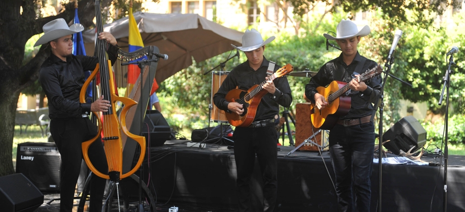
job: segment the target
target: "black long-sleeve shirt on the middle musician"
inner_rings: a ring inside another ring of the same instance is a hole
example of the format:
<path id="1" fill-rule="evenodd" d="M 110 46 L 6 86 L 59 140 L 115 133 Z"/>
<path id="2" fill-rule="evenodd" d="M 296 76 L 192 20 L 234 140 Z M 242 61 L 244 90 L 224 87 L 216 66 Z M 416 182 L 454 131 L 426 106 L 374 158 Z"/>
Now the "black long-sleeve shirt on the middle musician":
<path id="1" fill-rule="evenodd" d="M 264 82 L 265 77 L 268 76 L 266 74 L 268 65 L 269 61 L 263 57 L 263 62 L 260 68 L 258 68 L 256 71 L 250 67 L 249 61 L 246 61 L 234 68 L 226 76 L 220 88 L 218 89 L 218 92 L 213 96 L 213 101 L 216 107 L 225 111 L 226 113 L 231 113 L 227 108 L 227 104 L 229 102 L 224 98 L 227 92 L 235 89 L 236 86 L 241 90 L 249 90 L 252 86 Z M 280 67 L 274 67 L 274 71 L 278 69 L 280 69 Z M 286 76 L 274 79 L 273 83 L 276 87 L 276 91 L 274 92 L 274 95 L 267 93 L 262 97 L 257 107 L 257 113 L 255 115 L 254 121 L 272 119 L 280 112 L 280 105 L 285 108 L 291 105 L 291 88 Z"/>

